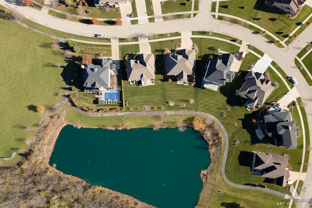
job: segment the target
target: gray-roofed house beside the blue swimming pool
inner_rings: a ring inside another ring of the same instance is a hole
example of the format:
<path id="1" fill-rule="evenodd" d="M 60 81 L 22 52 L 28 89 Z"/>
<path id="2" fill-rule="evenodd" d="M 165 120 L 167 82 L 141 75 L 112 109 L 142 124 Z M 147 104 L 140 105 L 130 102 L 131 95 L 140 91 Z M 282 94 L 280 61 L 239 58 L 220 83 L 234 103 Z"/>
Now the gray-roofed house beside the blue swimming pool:
<path id="1" fill-rule="evenodd" d="M 81 65 L 83 87 L 103 91 L 110 87 L 110 60 L 99 59 L 99 65 L 86 63 Z"/>

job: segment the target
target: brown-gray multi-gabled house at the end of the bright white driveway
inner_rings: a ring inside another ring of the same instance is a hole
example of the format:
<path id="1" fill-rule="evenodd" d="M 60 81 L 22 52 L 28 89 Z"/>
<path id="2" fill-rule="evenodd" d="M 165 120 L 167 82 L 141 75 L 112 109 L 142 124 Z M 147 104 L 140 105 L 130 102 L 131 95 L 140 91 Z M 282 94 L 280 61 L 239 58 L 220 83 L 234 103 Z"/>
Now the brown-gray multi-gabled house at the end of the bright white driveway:
<path id="1" fill-rule="evenodd" d="M 261 106 L 274 89 L 271 81 L 266 79 L 263 74 L 254 71 L 250 71 L 245 80 L 236 95 L 246 98 L 246 105 L 250 109 Z"/>

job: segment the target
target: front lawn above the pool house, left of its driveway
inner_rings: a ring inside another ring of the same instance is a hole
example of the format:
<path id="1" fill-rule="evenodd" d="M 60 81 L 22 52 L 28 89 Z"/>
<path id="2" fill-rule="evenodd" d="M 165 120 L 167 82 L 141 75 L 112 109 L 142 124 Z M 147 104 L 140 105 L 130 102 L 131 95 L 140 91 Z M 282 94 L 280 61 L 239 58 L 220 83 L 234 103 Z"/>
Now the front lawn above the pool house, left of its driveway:
<path id="1" fill-rule="evenodd" d="M 82 42 L 75 42 L 75 44 L 80 49 L 77 53 L 80 56 L 90 55 L 91 57 L 95 57 L 97 54 L 103 54 L 104 57 L 112 56 L 111 45 L 96 45 Z"/>

